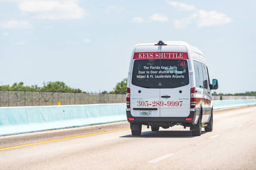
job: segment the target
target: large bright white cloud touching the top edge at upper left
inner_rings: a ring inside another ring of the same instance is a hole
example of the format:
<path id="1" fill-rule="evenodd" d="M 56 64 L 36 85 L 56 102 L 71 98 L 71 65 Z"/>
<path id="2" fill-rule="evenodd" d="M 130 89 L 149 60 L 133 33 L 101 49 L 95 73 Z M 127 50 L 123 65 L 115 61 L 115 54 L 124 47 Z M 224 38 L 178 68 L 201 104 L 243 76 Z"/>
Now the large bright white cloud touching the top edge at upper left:
<path id="1" fill-rule="evenodd" d="M 22 12 L 31 13 L 36 18 L 58 20 L 58 19 L 80 19 L 86 15 L 77 0 L 28 0 L 18 3 Z"/>

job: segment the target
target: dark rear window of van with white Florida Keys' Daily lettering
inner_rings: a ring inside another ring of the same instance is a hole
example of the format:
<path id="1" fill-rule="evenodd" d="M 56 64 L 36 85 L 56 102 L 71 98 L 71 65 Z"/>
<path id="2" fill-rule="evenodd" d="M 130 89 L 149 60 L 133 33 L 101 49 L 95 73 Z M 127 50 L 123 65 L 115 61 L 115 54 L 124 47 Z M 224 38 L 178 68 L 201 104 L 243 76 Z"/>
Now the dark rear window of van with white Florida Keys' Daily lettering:
<path id="1" fill-rule="evenodd" d="M 134 60 L 132 84 L 145 88 L 177 88 L 189 84 L 187 60 Z"/>

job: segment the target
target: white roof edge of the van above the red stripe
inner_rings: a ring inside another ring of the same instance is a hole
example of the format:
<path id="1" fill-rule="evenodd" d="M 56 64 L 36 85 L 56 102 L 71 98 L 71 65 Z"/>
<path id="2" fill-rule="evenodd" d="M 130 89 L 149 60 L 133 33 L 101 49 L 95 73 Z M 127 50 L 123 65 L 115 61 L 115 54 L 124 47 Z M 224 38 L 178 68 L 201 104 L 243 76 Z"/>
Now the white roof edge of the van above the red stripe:
<path id="1" fill-rule="evenodd" d="M 201 50 L 199 50 L 197 47 L 194 47 L 192 45 L 190 45 L 187 42 L 184 41 L 164 41 L 165 44 L 167 45 L 184 45 L 186 47 L 189 47 L 189 50 L 191 50 L 192 52 L 196 52 L 197 54 L 200 54 L 204 57 L 203 53 Z M 135 47 L 137 46 L 143 46 L 143 45 L 155 45 L 156 43 L 144 43 L 144 44 L 136 44 Z"/>

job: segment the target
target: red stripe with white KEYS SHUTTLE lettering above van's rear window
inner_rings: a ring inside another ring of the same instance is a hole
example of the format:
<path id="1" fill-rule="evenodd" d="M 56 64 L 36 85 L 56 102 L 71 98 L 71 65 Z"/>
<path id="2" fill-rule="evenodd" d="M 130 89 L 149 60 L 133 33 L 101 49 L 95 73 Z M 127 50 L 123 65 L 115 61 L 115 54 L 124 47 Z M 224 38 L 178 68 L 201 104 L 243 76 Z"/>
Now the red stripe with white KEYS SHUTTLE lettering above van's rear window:
<path id="1" fill-rule="evenodd" d="M 188 59 L 187 52 L 134 52 L 133 59 Z"/>

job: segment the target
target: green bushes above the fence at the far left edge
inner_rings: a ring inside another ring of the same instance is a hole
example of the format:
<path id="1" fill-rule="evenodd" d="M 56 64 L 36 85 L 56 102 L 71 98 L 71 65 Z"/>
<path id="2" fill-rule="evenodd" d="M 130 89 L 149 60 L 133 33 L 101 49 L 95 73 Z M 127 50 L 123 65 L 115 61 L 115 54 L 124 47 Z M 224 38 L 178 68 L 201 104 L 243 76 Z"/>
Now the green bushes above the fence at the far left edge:
<path id="1" fill-rule="evenodd" d="M 15 82 L 12 86 L 2 85 L 0 86 L 2 91 L 43 91 L 43 92 L 79 92 L 86 93 L 80 89 L 74 89 L 67 86 L 64 82 L 47 82 L 43 87 L 38 87 L 38 85 L 25 86 L 23 82 Z"/>

